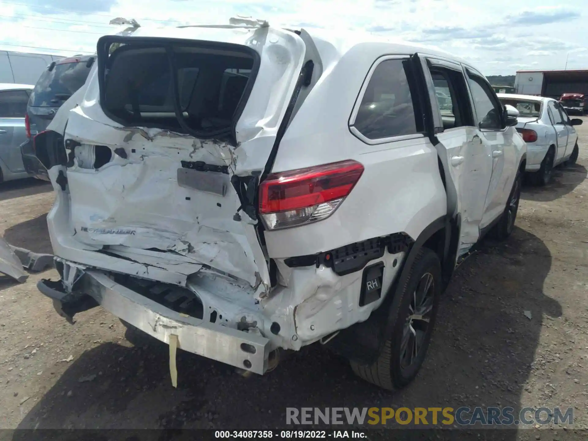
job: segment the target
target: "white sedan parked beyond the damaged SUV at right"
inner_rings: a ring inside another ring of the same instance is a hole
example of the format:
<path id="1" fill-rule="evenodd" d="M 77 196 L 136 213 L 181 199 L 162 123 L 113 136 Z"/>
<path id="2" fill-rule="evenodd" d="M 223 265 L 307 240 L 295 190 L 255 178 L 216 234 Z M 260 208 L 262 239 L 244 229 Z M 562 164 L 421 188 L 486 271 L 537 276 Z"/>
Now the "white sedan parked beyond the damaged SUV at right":
<path id="1" fill-rule="evenodd" d="M 553 167 L 560 163 L 576 163 L 579 148 L 574 126 L 582 124 L 582 119 L 570 119 L 562 105 L 552 98 L 512 93 L 497 96 L 503 105 L 519 111 L 516 129 L 527 143 L 525 171 L 530 172 L 534 183 L 548 183 Z"/>

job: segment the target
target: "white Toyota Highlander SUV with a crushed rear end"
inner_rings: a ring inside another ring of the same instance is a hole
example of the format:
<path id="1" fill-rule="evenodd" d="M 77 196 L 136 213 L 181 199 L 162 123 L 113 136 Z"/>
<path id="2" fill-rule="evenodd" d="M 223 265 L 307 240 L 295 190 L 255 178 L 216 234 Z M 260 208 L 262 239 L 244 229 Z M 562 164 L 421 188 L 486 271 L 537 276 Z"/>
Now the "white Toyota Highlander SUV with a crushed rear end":
<path id="1" fill-rule="evenodd" d="M 258 374 L 320 342 L 406 385 L 457 260 L 515 222 L 517 112 L 445 52 L 138 28 L 99 39 L 66 104 L 35 139 L 61 274 L 39 290 Z"/>

